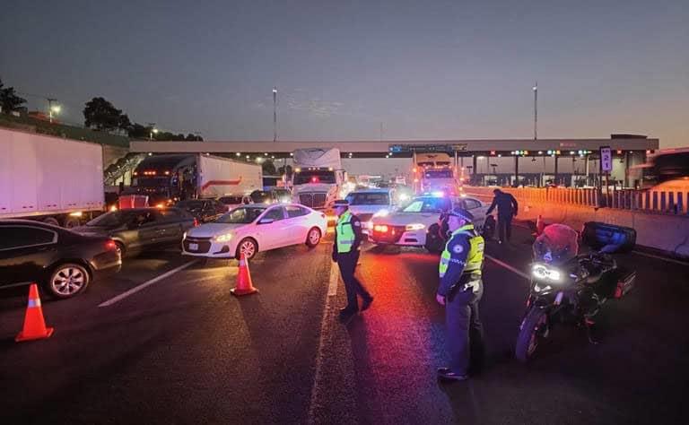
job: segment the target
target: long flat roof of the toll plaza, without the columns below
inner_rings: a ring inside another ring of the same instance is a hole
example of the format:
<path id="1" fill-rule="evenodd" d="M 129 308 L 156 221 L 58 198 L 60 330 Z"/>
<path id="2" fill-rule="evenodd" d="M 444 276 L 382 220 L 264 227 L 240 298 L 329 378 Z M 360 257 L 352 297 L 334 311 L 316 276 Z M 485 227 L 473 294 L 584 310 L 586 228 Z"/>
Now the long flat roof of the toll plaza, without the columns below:
<path id="1" fill-rule="evenodd" d="M 386 140 L 386 141 L 226 141 L 226 142 L 131 142 L 131 152 L 152 153 L 257 153 L 276 158 L 304 148 L 337 148 L 343 156 L 380 157 L 392 154 L 411 157 L 414 152 L 448 152 L 458 156 L 501 154 L 502 156 L 551 156 L 570 152 L 597 153 L 609 146 L 614 151 L 647 152 L 658 149 L 658 139 L 643 135 L 612 134 L 608 139 L 478 139 L 478 140 Z"/>

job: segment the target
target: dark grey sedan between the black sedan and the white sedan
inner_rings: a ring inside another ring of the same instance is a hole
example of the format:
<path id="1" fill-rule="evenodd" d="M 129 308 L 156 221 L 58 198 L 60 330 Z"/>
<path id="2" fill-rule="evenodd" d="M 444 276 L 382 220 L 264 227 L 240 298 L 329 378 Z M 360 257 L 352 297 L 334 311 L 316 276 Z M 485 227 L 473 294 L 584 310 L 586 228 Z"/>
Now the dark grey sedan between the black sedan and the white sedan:
<path id="1" fill-rule="evenodd" d="M 83 235 L 108 236 L 125 256 L 179 245 L 184 232 L 197 222 L 189 212 L 179 208 L 132 208 L 107 212 L 72 230 Z"/>

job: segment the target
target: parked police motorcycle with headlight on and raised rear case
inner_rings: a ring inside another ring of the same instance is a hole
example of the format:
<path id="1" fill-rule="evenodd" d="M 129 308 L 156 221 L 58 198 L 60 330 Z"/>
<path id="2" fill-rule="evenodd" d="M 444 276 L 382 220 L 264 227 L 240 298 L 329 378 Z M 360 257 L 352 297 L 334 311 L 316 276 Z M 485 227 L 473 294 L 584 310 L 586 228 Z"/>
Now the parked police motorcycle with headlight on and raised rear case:
<path id="1" fill-rule="evenodd" d="M 636 272 L 618 266 L 612 254 L 630 251 L 636 231 L 591 221 L 580 236 L 589 253 L 558 250 L 547 239 L 536 239 L 527 311 L 515 348 L 520 361 L 532 359 L 560 323 L 585 329 L 589 342 L 597 343 L 591 334 L 593 317 L 607 300 L 621 299 L 632 289 Z"/>

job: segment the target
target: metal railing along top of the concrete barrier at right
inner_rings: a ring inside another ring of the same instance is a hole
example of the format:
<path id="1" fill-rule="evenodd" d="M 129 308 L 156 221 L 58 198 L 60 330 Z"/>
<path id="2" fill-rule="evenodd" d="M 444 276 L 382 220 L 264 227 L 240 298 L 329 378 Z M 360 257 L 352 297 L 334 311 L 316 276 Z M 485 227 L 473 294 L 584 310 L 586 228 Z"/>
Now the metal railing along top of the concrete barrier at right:
<path id="1" fill-rule="evenodd" d="M 495 187 L 465 186 L 472 195 L 492 198 Z M 669 215 L 689 214 L 689 192 L 658 190 L 610 190 L 569 187 L 501 187 L 519 203 L 571 204 Z"/>

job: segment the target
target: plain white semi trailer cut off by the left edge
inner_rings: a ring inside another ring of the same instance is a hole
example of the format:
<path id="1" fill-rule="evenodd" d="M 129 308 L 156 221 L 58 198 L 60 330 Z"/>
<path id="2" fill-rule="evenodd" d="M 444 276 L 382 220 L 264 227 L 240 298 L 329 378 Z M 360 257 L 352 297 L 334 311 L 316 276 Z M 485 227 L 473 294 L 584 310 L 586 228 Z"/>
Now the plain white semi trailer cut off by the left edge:
<path id="1" fill-rule="evenodd" d="M 0 129 L 0 219 L 72 228 L 103 212 L 100 144 Z"/>

